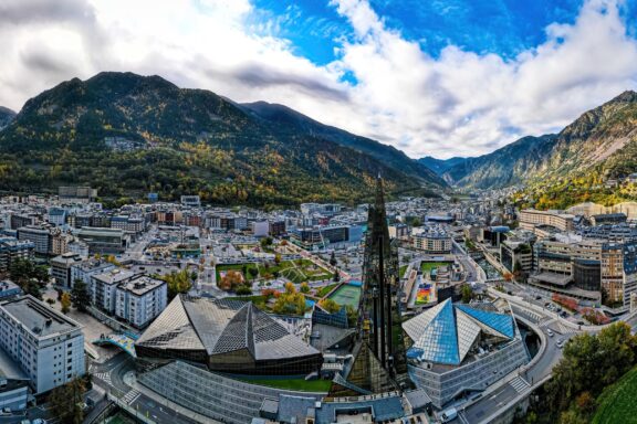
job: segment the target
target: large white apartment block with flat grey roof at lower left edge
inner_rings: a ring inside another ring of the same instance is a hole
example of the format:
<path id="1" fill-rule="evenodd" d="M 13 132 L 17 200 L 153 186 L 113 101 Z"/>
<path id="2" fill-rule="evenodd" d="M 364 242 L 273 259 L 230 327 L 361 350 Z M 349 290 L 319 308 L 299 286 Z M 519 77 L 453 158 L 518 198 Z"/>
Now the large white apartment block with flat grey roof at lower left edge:
<path id="1" fill-rule="evenodd" d="M 30 295 L 0 303 L 0 347 L 35 394 L 85 373 L 82 326 Z"/>

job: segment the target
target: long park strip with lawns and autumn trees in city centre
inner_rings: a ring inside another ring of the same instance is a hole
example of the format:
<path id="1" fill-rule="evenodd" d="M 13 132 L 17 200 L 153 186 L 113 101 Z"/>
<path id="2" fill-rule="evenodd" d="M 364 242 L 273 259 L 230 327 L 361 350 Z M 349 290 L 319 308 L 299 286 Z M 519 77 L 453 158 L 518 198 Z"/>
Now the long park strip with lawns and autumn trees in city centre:
<path id="1" fill-rule="evenodd" d="M 284 277 L 294 284 L 318 282 L 333 277 L 332 273 L 310 259 L 282 261 L 279 264 L 275 262 L 263 262 L 259 264 L 218 265 L 217 280 L 221 280 L 228 271 L 240 273 L 244 280 Z M 248 275 L 243 275 L 244 273 Z"/>

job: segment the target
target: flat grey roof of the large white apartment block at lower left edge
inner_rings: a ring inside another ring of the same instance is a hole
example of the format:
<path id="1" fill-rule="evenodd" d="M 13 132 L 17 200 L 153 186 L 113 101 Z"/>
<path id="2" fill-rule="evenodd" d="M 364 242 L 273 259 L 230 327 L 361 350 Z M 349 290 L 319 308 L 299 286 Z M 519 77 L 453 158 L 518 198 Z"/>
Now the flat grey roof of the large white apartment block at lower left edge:
<path id="1" fill-rule="evenodd" d="M 31 295 L 0 303 L 0 310 L 12 316 L 28 332 L 38 338 L 66 333 L 82 328 L 80 324 Z"/>

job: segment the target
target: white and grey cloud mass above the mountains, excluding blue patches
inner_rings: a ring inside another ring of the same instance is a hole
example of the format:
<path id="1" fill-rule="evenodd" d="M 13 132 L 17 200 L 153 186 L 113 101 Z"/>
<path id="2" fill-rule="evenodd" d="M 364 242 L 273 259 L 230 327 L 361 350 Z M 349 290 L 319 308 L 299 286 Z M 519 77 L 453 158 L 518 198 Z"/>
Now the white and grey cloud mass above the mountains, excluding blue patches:
<path id="1" fill-rule="evenodd" d="M 610 0 L 587 1 L 574 24 L 547 26 L 542 45 L 509 61 L 452 45 L 434 59 L 366 0 L 331 3 L 355 36 L 317 66 L 286 40 L 253 33 L 248 0 L 4 0 L 0 105 L 20 108 L 73 76 L 132 71 L 286 104 L 413 157 L 450 157 L 557 130 L 637 86 L 637 42 Z M 358 83 L 343 82 L 345 73 Z"/>

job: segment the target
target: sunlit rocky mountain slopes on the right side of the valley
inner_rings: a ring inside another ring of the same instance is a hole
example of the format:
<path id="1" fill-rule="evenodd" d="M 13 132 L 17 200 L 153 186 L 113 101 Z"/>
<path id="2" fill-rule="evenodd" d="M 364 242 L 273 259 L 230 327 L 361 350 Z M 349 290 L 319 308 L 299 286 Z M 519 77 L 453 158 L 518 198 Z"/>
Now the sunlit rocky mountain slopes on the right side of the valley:
<path id="1" fill-rule="evenodd" d="M 631 194 L 605 182 L 637 171 L 637 93 L 622 93 L 558 134 L 523 137 L 476 158 L 419 161 L 459 188 L 524 184 L 536 206 L 628 200 Z"/>

